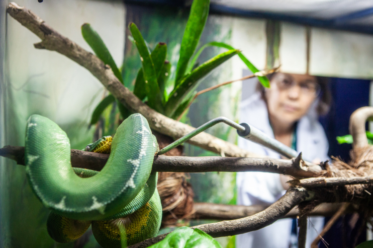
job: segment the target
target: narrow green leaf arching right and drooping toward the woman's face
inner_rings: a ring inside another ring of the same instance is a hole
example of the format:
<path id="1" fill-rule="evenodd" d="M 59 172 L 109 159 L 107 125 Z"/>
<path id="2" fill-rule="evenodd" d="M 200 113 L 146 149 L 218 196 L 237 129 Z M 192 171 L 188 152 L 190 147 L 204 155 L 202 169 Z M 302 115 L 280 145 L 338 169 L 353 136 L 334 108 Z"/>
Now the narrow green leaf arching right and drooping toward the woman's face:
<path id="1" fill-rule="evenodd" d="M 191 68 L 193 67 L 193 65 L 196 63 L 198 57 L 201 55 L 201 53 L 203 52 L 203 50 L 207 47 L 211 47 L 211 46 L 215 46 L 215 47 L 222 47 L 222 48 L 226 48 L 226 49 L 234 49 L 232 46 L 228 45 L 228 44 L 225 44 L 223 42 L 209 42 L 205 45 L 203 45 L 199 50 L 198 52 L 194 55 L 193 59 L 191 60 L 189 66 L 188 66 L 188 69 L 187 69 L 187 73 L 191 70 Z M 257 69 L 257 67 L 255 67 L 241 52 L 238 53 L 238 56 L 240 57 L 240 59 L 246 64 L 246 66 L 253 72 L 258 72 L 259 70 Z M 258 77 L 258 80 L 262 83 L 262 85 L 264 87 L 267 87 L 269 88 L 270 87 L 270 80 L 268 80 L 268 78 L 266 76 L 263 76 L 263 77 Z"/>

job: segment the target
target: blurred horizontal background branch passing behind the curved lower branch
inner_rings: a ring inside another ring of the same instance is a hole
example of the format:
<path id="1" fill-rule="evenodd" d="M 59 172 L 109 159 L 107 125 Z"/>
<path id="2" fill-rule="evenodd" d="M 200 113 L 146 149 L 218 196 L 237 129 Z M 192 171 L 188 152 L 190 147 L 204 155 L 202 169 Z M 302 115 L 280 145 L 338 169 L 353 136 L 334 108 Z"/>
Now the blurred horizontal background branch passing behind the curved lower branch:
<path id="1" fill-rule="evenodd" d="M 340 209 L 343 203 L 321 203 L 307 216 L 332 216 Z M 205 202 L 194 202 L 194 214 L 191 219 L 207 219 L 207 220 L 234 220 L 257 214 L 265 210 L 268 206 L 265 205 L 225 205 Z M 348 210 L 354 212 L 353 208 Z M 296 218 L 299 216 L 298 208 L 293 208 L 283 218 Z"/>

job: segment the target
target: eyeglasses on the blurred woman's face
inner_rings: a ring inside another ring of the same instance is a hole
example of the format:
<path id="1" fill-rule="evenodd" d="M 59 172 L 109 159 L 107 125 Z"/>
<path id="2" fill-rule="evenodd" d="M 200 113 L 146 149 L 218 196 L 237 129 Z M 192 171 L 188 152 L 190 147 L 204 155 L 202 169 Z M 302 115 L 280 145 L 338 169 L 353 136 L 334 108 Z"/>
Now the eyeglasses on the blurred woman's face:
<path id="1" fill-rule="evenodd" d="M 271 81 L 276 82 L 280 90 L 288 90 L 298 85 L 300 92 L 305 95 L 318 96 L 321 91 L 320 85 L 317 82 L 313 80 L 297 82 L 291 75 L 278 74 Z"/>

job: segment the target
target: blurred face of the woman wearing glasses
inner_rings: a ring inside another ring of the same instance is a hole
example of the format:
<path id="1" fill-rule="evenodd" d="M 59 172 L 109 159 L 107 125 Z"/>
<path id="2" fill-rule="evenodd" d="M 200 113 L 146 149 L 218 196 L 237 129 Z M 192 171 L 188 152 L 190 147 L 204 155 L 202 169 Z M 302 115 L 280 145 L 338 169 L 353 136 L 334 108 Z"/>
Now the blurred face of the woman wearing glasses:
<path id="1" fill-rule="evenodd" d="M 282 123 L 293 124 L 306 115 L 320 91 L 315 76 L 276 73 L 266 89 L 268 111 Z"/>

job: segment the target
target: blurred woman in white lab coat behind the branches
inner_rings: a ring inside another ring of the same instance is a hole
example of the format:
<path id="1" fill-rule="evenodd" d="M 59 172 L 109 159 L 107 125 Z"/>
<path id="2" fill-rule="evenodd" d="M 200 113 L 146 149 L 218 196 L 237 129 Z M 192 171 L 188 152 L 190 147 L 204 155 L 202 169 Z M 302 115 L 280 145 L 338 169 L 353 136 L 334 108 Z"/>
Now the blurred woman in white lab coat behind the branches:
<path id="1" fill-rule="evenodd" d="M 240 123 L 248 123 L 281 143 L 302 152 L 305 160 L 319 163 L 328 159 L 329 143 L 318 116 L 326 114 L 331 102 L 324 78 L 311 75 L 274 73 L 271 87 L 258 84 L 257 93 L 242 102 Z M 238 145 L 250 152 L 271 158 L 280 155 L 266 147 L 238 139 Z M 264 173 L 237 173 L 239 205 L 270 205 L 289 188 L 289 176 Z M 324 225 L 323 217 L 310 218 L 307 232 L 309 248 Z M 238 235 L 237 248 L 290 248 L 294 228 L 292 219 L 282 219 L 258 231 Z"/>

